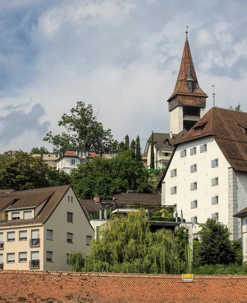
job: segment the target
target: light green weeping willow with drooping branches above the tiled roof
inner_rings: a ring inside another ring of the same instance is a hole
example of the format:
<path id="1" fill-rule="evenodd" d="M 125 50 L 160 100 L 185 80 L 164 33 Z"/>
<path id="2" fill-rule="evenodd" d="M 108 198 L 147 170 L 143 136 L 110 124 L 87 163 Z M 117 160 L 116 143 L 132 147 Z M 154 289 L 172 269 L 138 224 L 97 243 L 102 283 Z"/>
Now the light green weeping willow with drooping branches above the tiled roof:
<path id="1" fill-rule="evenodd" d="M 145 219 L 143 211 L 133 211 L 103 224 L 100 237 L 90 242 L 89 256 L 81 271 L 178 273 L 181 264 L 174 233 L 167 229 L 152 233 Z"/>

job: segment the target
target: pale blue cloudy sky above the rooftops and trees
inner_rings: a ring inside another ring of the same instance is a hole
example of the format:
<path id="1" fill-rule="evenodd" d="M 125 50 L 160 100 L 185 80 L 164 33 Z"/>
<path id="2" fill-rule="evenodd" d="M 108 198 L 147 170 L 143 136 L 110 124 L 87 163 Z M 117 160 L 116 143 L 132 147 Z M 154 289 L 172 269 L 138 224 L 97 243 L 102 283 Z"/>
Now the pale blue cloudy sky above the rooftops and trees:
<path id="1" fill-rule="evenodd" d="M 0 0 L 0 153 L 34 146 L 77 101 L 122 141 L 169 132 L 188 26 L 199 85 L 247 111 L 245 0 Z"/>

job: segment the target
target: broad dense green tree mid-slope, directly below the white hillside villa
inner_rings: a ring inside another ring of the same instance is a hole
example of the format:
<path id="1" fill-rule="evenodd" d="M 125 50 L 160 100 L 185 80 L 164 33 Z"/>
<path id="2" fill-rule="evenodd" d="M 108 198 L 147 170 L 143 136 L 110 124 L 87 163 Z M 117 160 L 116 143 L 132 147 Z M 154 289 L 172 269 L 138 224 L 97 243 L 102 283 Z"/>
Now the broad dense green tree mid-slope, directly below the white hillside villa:
<path id="1" fill-rule="evenodd" d="M 71 174 L 71 181 L 81 199 L 90 199 L 95 194 L 112 199 L 114 194 L 127 189 L 149 193 L 148 174 L 142 168 L 142 163 L 133 159 L 129 151 L 122 151 L 112 159 L 96 157 L 79 165 Z"/>

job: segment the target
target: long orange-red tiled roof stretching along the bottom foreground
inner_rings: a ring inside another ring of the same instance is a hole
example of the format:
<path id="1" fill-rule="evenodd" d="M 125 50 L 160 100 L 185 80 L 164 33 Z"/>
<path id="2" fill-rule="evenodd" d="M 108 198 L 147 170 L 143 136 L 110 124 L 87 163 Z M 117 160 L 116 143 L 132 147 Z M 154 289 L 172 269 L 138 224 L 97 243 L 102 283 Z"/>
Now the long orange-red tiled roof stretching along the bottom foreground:
<path id="1" fill-rule="evenodd" d="M 245 303 L 247 276 L 1 271 L 1 302 Z"/>

